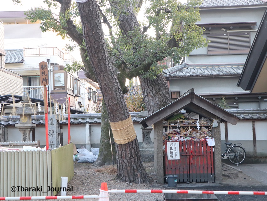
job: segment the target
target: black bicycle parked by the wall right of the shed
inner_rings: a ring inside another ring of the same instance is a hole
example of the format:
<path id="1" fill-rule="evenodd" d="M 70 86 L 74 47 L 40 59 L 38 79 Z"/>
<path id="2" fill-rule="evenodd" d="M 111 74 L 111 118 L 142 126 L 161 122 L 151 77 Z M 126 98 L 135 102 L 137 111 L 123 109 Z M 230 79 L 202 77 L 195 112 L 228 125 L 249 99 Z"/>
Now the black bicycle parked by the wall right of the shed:
<path id="1" fill-rule="evenodd" d="M 227 145 L 224 154 L 222 154 L 222 159 L 228 158 L 231 163 L 238 164 L 242 163 L 246 157 L 246 151 L 241 147 L 241 143 L 232 144 L 231 142 L 225 142 Z"/>

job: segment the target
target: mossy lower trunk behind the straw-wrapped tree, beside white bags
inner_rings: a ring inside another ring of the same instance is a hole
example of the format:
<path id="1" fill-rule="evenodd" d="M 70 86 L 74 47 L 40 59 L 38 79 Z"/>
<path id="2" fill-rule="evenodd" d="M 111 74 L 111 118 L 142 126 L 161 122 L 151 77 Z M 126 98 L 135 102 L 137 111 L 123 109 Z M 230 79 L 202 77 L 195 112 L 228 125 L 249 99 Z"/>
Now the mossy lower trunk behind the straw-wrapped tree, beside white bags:
<path id="1" fill-rule="evenodd" d="M 100 167 L 103 165 L 112 165 L 113 162 L 116 163 L 116 150 L 115 143 L 113 139 L 112 131 L 110 131 L 110 139 L 112 143 L 113 155 L 111 152 L 110 140 L 109 140 L 109 118 L 107 114 L 107 107 L 105 105 L 105 101 L 102 100 L 102 108 L 101 108 L 101 137 L 100 137 L 100 147 L 99 147 L 99 155 L 97 160 L 94 162 L 94 166 Z M 114 157 L 114 158 L 113 158 Z"/>

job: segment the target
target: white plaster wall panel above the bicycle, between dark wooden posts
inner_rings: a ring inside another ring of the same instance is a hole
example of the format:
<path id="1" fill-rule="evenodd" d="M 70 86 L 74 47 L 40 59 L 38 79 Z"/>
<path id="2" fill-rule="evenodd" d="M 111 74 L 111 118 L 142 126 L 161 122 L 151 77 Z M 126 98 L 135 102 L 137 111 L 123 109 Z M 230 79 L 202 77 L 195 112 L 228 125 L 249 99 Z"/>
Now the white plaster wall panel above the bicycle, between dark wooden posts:
<path id="1" fill-rule="evenodd" d="M 253 140 L 251 121 L 238 121 L 236 125 L 228 123 L 228 140 Z"/>

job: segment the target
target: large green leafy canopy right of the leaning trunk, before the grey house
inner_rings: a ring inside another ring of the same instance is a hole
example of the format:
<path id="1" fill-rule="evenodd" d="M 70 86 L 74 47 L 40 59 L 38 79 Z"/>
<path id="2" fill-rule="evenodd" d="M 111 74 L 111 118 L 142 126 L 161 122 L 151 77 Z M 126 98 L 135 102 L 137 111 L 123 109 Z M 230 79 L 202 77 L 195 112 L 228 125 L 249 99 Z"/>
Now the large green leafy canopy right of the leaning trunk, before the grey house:
<path id="1" fill-rule="evenodd" d="M 197 47 L 207 45 L 202 37 L 203 30 L 196 26 L 200 20 L 198 5 L 200 0 L 191 0 L 182 4 L 173 0 L 154 0 L 146 10 L 146 17 L 156 36 L 141 34 L 136 27 L 127 35 L 117 33 L 116 46 L 111 55 L 116 58 L 117 65 L 123 65 L 125 71 L 147 63 L 152 64 L 149 69 L 141 69 L 140 73 L 145 78 L 154 79 L 155 75 L 162 72 L 157 62 L 170 56 L 175 63 L 188 56 Z M 121 11 L 117 11 L 121 12 Z M 170 45 L 170 41 L 172 44 Z"/>

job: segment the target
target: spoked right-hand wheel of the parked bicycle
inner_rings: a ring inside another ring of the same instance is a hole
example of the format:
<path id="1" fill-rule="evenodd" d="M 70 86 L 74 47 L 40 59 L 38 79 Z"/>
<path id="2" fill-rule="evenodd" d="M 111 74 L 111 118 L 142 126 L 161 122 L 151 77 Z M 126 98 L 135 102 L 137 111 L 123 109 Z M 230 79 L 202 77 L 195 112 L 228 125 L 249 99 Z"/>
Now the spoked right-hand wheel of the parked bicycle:
<path id="1" fill-rule="evenodd" d="M 243 147 L 234 145 L 231 149 L 228 149 L 227 155 L 231 163 L 240 164 L 245 160 L 246 151 Z"/>

